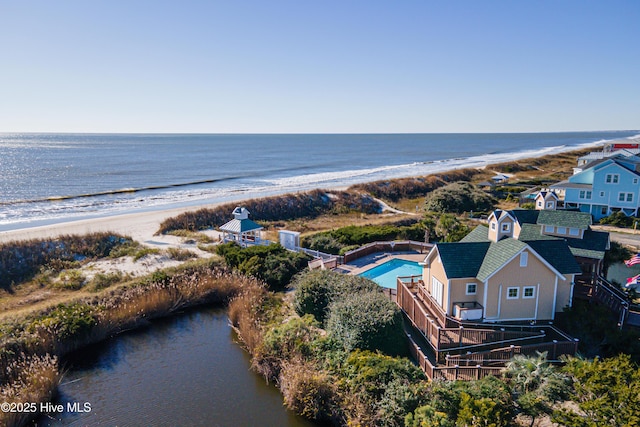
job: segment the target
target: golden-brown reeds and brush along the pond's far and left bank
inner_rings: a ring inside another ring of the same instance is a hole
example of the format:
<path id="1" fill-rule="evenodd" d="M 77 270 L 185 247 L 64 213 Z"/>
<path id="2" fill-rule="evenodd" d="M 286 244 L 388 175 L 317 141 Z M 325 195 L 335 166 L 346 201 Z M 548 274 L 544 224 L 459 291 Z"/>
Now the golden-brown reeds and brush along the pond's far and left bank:
<path id="1" fill-rule="evenodd" d="M 1 396 L 9 402 L 50 399 L 60 376 L 57 357 L 185 307 L 228 303 L 252 288 L 262 285 L 220 261 L 202 260 L 0 324 Z M 25 421 L 0 413 L 0 425 Z"/>

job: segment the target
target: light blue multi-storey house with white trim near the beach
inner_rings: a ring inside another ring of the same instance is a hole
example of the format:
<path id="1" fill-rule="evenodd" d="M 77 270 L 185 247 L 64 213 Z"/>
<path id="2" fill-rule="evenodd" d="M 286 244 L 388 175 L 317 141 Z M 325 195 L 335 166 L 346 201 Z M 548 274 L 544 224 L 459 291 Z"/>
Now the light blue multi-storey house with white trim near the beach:
<path id="1" fill-rule="evenodd" d="M 617 153 L 575 169 L 566 181 L 551 186 L 564 191 L 565 209 L 577 209 L 599 220 L 614 212 L 638 216 L 640 157 Z"/>

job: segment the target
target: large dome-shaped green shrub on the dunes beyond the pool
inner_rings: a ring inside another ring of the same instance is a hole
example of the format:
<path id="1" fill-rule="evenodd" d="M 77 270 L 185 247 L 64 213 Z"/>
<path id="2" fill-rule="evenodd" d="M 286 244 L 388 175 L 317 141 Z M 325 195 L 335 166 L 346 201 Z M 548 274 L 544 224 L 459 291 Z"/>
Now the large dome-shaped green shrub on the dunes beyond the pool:
<path id="1" fill-rule="evenodd" d="M 491 210 L 494 203 L 493 197 L 473 184 L 454 182 L 429 194 L 425 208 L 434 212 L 462 213 Z"/>

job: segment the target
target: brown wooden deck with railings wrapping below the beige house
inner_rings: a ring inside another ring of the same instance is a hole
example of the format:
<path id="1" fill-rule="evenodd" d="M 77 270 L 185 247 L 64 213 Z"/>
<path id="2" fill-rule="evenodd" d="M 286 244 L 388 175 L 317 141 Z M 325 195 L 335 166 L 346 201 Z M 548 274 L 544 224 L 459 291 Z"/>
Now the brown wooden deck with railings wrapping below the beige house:
<path id="1" fill-rule="evenodd" d="M 419 277 L 398 278 L 396 303 L 423 338 L 409 336 L 409 341 L 413 357 L 430 379 L 479 379 L 499 374 L 516 354 L 547 351 L 555 361 L 577 351 L 577 340 L 552 325 L 460 322 L 431 298 Z M 422 341 L 431 348 L 421 348 Z M 427 357 L 431 353 L 434 356 Z"/>

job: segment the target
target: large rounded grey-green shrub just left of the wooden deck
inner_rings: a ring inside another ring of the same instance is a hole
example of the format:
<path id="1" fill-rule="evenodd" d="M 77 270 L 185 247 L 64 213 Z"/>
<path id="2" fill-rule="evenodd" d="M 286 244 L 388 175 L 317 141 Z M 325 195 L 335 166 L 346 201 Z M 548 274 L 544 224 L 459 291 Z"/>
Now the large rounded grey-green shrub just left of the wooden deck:
<path id="1" fill-rule="evenodd" d="M 380 350 L 390 355 L 407 353 L 402 315 L 382 292 L 358 292 L 329 305 L 327 332 L 346 351 Z"/>

